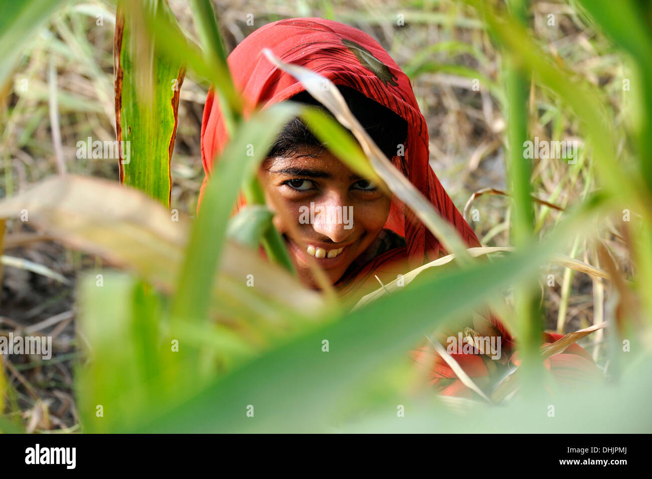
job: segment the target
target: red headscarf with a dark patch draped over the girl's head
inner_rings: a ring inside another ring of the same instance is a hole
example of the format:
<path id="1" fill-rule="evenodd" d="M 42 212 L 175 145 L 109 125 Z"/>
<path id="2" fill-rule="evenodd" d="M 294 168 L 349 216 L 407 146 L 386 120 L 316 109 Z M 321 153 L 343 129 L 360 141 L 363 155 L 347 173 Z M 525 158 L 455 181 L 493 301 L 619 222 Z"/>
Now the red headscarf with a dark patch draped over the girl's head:
<path id="1" fill-rule="evenodd" d="M 443 218 L 456 227 L 469 246 L 480 246 L 475 233 L 428 164 L 428 126 L 419 111 L 408 76 L 374 38 L 349 25 L 322 18 L 292 18 L 260 27 L 228 57 L 235 87 L 246 103 L 245 115 L 256 106 L 265 108 L 304 91 L 299 81 L 261 55 L 263 48 L 269 48 L 285 63 L 303 66 L 335 85 L 346 85 L 363 93 L 406 120 L 406 167 L 398 156 L 393 158 L 394 165 L 430 199 Z M 219 101 L 211 91 L 201 122 L 201 157 L 207 176 L 213 169 L 213 158 L 222 151 L 227 139 Z M 202 190 L 205 183 L 206 180 Z M 439 241 L 398 199 L 392 201 L 385 227 L 405 237 L 404 255 L 410 267 L 419 267 L 439 256 Z"/>

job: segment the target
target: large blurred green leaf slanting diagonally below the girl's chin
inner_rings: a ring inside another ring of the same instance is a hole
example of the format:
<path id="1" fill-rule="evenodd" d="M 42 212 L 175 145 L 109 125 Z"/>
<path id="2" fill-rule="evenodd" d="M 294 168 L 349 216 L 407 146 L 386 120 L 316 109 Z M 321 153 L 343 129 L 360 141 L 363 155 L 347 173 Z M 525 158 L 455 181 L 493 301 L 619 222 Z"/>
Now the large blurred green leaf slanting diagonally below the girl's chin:
<path id="1" fill-rule="evenodd" d="M 493 265 L 445 276 L 423 272 L 411 287 L 261 356 L 137 430 L 327 431 L 334 426 L 336 405 L 364 374 L 405 354 L 437 325 L 481 306 L 514 282 L 531 280 L 556 247 L 548 240 Z M 327 353 L 323 340 L 329 341 Z M 249 405 L 254 418 L 246 415 Z"/>

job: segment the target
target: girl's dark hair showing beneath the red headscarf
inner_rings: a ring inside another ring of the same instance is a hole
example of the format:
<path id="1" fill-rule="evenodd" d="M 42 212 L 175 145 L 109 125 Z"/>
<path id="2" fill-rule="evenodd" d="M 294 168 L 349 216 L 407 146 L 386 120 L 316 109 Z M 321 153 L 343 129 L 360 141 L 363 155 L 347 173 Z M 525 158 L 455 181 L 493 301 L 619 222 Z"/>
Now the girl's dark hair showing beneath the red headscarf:
<path id="1" fill-rule="evenodd" d="M 392 158 L 396 155 L 397 145 L 405 143 L 408 136 L 408 122 L 396 115 L 391 109 L 368 98 L 359 91 L 344 85 L 338 85 L 338 89 L 342 92 L 351 113 L 355 115 L 369 136 L 376 142 L 376 145 L 385 153 L 385 156 Z M 312 98 L 306 91 L 289 99 L 317 106 L 331 118 L 333 117 L 321 103 Z M 291 156 L 306 146 L 325 149 L 325 146 L 312 134 L 308 126 L 299 117 L 295 117 L 278 134 L 267 156 Z"/>

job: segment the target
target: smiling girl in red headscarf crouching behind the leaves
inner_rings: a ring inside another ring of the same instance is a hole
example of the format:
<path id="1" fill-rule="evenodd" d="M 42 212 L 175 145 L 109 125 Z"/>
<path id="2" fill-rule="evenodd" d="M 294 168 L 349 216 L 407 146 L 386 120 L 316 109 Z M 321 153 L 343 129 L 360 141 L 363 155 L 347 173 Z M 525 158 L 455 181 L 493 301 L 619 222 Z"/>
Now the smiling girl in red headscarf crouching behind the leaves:
<path id="1" fill-rule="evenodd" d="M 246 111 L 285 100 L 319 106 L 299 81 L 261 55 L 263 48 L 284 63 L 303 66 L 333 81 L 394 167 L 456 228 L 468 247 L 481 246 L 428 163 L 428 126 L 408 76 L 376 40 L 358 29 L 321 18 L 280 20 L 259 28 L 228 57 Z M 213 158 L 227 141 L 222 111 L 211 91 L 201 124 L 207 177 L 213 170 Z M 301 282 L 318 287 L 309 266 L 316 261 L 348 306 L 378 289 L 376 277 L 391 282 L 398 274 L 445 254 L 439 240 L 408 207 L 340 162 L 299 119 L 280 132 L 261 165 L 259 179 L 267 205 L 276 212 L 274 227 L 286 242 Z M 238 207 L 243 205 L 241 197 Z M 308 214 L 310 220 L 306 221 L 306 210 L 319 214 Z M 347 221 L 345 211 L 350 212 Z M 477 351 L 452 356 L 476 379 L 485 379 L 501 366 L 504 370 L 514 349 L 509 332 L 492 315 L 486 319 L 478 316 L 471 326 L 484 336 L 500 336 L 506 354 L 497 362 Z M 546 342 L 557 339 L 549 334 L 544 337 Z M 415 351 L 413 358 L 430 370 L 430 381 L 442 394 L 473 394 L 432 348 Z M 549 358 L 548 367 L 561 371 L 567 379 L 592 379 L 597 373 L 591 357 L 577 345 Z"/>

